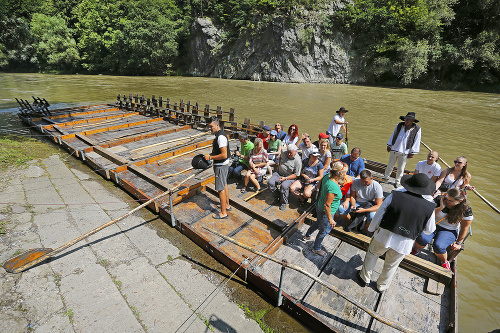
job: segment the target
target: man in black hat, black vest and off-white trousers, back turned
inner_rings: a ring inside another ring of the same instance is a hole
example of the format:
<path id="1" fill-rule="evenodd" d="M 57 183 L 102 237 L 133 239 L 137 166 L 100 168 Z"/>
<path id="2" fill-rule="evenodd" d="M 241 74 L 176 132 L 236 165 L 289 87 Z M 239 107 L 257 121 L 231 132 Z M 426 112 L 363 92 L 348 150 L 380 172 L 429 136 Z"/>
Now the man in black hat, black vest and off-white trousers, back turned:
<path id="1" fill-rule="evenodd" d="M 399 263 L 410 254 L 413 242 L 423 231 L 430 235 L 436 229 L 434 202 L 431 194 L 435 184 L 422 173 L 401 179 L 403 189 L 393 191 L 373 217 L 368 231 L 375 231 L 366 251 L 358 282 L 366 286 L 378 257 L 385 253 L 384 267 L 377 280 L 377 289 L 389 288 Z"/>

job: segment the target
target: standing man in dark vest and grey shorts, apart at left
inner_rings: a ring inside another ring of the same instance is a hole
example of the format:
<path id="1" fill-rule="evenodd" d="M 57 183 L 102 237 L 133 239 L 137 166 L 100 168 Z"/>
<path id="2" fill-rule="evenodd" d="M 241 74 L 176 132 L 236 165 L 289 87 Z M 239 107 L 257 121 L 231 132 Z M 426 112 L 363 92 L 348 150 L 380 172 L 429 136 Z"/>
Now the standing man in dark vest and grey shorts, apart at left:
<path id="1" fill-rule="evenodd" d="M 229 207 L 229 188 L 227 187 L 227 173 L 229 170 L 229 140 L 226 133 L 220 128 L 219 119 L 212 117 L 208 128 L 215 134 L 212 142 L 212 153 L 205 154 L 207 161 L 213 160 L 215 174 L 215 190 L 219 192 L 220 213 L 213 214 L 214 219 L 227 219 Z"/>

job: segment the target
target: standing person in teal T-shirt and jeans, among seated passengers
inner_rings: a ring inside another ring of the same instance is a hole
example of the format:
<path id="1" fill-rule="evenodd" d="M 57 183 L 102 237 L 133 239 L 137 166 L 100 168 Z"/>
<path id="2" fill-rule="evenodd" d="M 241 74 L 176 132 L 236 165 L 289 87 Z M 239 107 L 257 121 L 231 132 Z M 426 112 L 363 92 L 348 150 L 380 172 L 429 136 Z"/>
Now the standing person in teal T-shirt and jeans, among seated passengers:
<path id="1" fill-rule="evenodd" d="M 333 164 L 330 173 L 321 180 L 321 191 L 316 206 L 318 218 L 302 238 L 303 240 L 311 239 L 312 233 L 319 228 L 312 251 L 320 256 L 326 255 L 326 252 L 321 250 L 323 239 L 336 225 L 333 215 L 339 208 L 340 198 L 342 197 L 338 184 L 342 168 L 342 163 L 336 162 Z"/>

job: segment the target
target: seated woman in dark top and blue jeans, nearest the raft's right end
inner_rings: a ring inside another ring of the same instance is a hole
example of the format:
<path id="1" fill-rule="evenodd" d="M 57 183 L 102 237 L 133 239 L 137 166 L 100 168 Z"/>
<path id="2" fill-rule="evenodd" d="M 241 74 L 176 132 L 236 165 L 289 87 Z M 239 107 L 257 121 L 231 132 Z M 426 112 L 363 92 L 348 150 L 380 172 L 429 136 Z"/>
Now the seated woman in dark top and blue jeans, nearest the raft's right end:
<path id="1" fill-rule="evenodd" d="M 415 240 L 411 254 L 418 254 L 421 249 L 434 239 L 432 247 L 436 257 L 441 260 L 441 266 L 450 269 L 446 249 L 450 245 L 452 250 L 462 248 L 474 216 L 472 215 L 472 209 L 467 204 L 464 193 L 457 188 L 449 189 L 445 195 L 435 198 L 434 202 L 438 205 L 434 210 L 437 221 L 436 231 L 430 235 L 421 233 Z"/>

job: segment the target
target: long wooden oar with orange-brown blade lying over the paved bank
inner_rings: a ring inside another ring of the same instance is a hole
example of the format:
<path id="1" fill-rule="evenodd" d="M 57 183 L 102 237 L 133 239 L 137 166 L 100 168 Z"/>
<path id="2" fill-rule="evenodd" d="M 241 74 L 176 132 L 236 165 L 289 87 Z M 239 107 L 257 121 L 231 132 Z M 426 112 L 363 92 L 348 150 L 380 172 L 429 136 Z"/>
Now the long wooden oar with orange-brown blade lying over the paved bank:
<path id="1" fill-rule="evenodd" d="M 20 273 L 42 261 L 44 261 L 45 259 L 48 259 L 50 257 L 53 257 L 54 255 L 60 253 L 61 251 L 64 251 L 66 250 L 68 247 L 78 243 L 79 241 L 89 237 L 89 236 L 92 236 L 93 234 L 95 234 L 96 232 L 98 231 L 101 231 L 102 229 L 106 228 L 106 227 L 109 227 L 110 225 L 120 221 L 120 220 L 123 220 L 124 218 L 126 218 L 127 216 L 130 216 L 132 215 L 133 213 L 135 213 L 136 211 L 138 211 L 139 209 L 149 205 L 150 203 L 152 203 L 153 201 L 155 200 L 158 200 L 166 195 L 168 195 L 169 193 L 171 193 L 172 191 L 174 191 L 175 189 L 177 189 L 180 185 L 182 185 L 183 183 L 185 183 L 186 181 L 188 181 L 189 179 L 193 178 L 194 176 L 200 174 L 201 172 L 203 172 L 205 170 L 200 170 L 194 174 L 192 174 L 191 176 L 187 177 L 186 179 L 184 179 L 182 182 L 180 182 L 179 184 L 175 185 L 172 189 L 170 189 L 169 191 L 165 191 L 163 192 L 162 194 L 160 195 L 157 195 L 156 197 L 154 197 L 153 199 L 150 199 L 148 201 L 146 201 L 145 203 L 143 203 L 142 205 L 138 206 L 137 208 L 134 208 L 132 209 L 130 212 L 120 216 L 119 218 L 113 220 L 113 221 L 109 221 L 103 225 L 101 225 L 100 227 L 97 227 L 89 232 L 87 232 L 86 234 L 84 235 L 81 235 L 80 237 L 78 238 L 75 238 L 73 239 L 71 242 L 69 243 L 66 243 L 60 247 L 58 247 L 57 249 L 53 250 L 53 249 L 46 249 L 46 248 L 39 248 L 39 249 L 31 249 L 31 250 L 28 250 L 24 253 L 21 253 L 20 255 L 14 257 L 14 258 L 11 258 L 9 260 L 7 260 L 6 262 L 4 262 L 3 264 L 3 268 L 5 268 L 5 270 L 9 273 Z"/>

